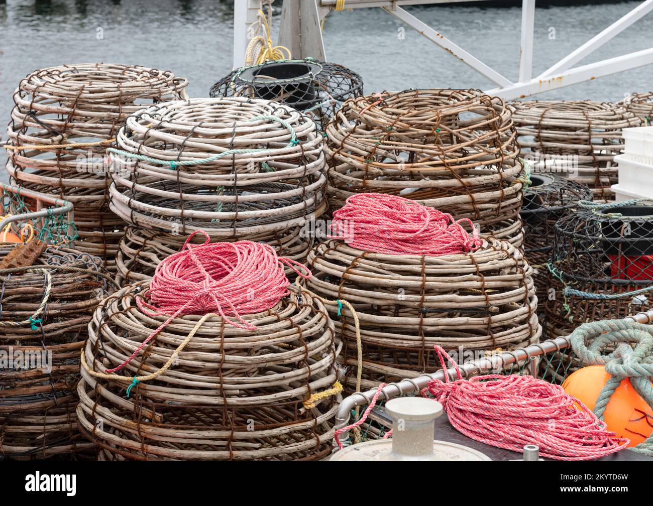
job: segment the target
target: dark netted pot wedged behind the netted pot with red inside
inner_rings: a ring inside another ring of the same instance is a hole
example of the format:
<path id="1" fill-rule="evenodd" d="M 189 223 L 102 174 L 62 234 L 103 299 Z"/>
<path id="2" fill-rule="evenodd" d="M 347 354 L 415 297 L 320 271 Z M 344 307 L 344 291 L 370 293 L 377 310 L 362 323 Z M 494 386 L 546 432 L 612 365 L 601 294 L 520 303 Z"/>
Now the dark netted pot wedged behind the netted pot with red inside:
<path id="1" fill-rule="evenodd" d="M 558 219 L 576 208 L 579 200 L 592 200 L 592 191 L 554 174 L 531 174 L 530 181 L 524 192 L 520 216 L 524 224 L 524 254 L 534 269 L 537 312 L 543 314 L 549 289 L 547 263 L 553 249 L 554 226 Z"/>

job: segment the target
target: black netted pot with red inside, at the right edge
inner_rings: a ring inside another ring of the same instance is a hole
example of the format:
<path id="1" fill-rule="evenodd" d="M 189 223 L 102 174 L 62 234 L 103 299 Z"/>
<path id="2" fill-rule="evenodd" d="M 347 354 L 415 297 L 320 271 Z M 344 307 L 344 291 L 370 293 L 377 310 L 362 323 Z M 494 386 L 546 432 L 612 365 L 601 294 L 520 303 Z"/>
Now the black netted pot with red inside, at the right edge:
<path id="1" fill-rule="evenodd" d="M 586 321 L 653 308 L 653 206 L 581 202 L 556 223 L 549 270 L 550 338 L 567 336 Z"/>

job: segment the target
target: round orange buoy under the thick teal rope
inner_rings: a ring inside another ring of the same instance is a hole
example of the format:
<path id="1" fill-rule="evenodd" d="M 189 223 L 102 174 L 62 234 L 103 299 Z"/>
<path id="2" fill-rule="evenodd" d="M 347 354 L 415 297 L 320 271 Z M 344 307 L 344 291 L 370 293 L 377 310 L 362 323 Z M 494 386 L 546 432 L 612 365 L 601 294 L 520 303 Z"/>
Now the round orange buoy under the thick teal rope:
<path id="1" fill-rule="evenodd" d="M 593 410 L 599 392 L 609 379 L 603 366 L 587 366 L 571 373 L 562 388 Z M 603 419 L 617 437 L 630 439 L 629 447 L 639 445 L 653 432 L 653 409 L 639 396 L 629 379 L 624 379 L 614 390 Z"/>

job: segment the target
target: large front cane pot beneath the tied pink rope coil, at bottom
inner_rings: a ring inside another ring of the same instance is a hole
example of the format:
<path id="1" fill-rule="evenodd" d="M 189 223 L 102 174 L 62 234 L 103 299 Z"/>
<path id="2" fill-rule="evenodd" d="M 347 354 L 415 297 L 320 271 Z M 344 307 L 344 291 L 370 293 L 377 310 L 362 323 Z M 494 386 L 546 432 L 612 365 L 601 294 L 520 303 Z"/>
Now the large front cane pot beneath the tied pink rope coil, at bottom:
<path id="1" fill-rule="evenodd" d="M 80 427 L 102 460 L 316 460 L 330 454 L 338 396 L 310 402 L 337 381 L 334 326 L 309 294 L 246 315 L 257 330 L 221 317 L 170 322 L 127 366 L 125 381 L 96 377 L 120 364 L 166 317 L 143 313 L 148 281 L 125 287 L 95 311 L 78 385 Z M 195 331 L 193 331 L 195 329 Z M 151 381 L 190 335 L 178 360 Z M 125 388 L 131 392 L 125 398 Z"/>

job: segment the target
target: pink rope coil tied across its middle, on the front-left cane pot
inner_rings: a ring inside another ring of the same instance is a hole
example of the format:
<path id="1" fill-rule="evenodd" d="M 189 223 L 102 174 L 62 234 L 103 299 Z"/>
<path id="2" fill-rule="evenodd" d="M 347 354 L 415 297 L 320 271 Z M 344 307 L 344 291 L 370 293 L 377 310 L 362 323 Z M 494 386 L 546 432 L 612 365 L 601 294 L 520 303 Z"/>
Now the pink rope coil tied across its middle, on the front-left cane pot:
<path id="1" fill-rule="evenodd" d="M 206 238 L 204 244 L 190 244 L 197 233 Z M 278 257 L 270 245 L 251 241 L 210 243 L 210 237 L 204 230 L 196 230 L 186 239 L 182 251 L 170 255 L 157 266 L 148 291 L 151 304 L 142 298 L 136 301 L 138 308 L 151 316 L 171 316 L 127 360 L 104 372 L 116 372 L 129 364 L 151 338 L 182 313 L 217 313 L 232 326 L 256 330 L 256 326 L 245 321 L 241 315 L 270 309 L 289 294 L 290 281 L 283 264 L 291 267 L 299 276 L 311 276 L 304 264 Z"/>

